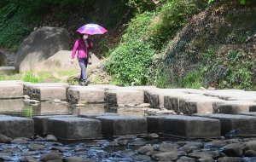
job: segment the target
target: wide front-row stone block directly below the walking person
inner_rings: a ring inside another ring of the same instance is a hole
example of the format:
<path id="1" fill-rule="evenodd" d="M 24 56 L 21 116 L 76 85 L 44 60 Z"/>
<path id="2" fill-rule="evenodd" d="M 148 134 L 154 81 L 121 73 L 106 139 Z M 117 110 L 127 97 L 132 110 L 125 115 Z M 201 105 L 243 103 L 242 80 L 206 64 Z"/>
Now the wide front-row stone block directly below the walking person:
<path id="1" fill-rule="evenodd" d="M 102 124 L 97 119 L 79 117 L 49 118 L 48 135 L 54 135 L 61 140 L 101 139 Z"/>

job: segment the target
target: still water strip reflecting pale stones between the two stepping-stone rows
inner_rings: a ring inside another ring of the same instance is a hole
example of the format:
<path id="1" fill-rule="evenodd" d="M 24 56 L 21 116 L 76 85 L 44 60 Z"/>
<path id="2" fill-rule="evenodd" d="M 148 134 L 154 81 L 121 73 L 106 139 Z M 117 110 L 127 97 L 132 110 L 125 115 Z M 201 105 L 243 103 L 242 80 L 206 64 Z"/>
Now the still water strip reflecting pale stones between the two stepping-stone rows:
<path id="1" fill-rule="evenodd" d="M 75 115 L 81 113 L 119 113 L 120 115 L 144 116 L 146 108 L 114 107 L 101 104 L 79 104 L 70 106 L 67 102 L 0 100 L 0 114 L 32 118 L 40 115 Z"/>

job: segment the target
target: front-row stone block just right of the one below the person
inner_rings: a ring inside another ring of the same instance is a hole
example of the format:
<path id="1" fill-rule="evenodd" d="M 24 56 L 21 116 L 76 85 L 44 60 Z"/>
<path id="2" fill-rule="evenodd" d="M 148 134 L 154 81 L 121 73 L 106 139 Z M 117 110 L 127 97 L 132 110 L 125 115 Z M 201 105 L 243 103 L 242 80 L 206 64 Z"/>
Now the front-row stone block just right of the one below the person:
<path id="1" fill-rule="evenodd" d="M 136 116 L 97 117 L 102 123 L 102 134 L 108 136 L 139 135 L 148 133 L 147 119 Z"/>

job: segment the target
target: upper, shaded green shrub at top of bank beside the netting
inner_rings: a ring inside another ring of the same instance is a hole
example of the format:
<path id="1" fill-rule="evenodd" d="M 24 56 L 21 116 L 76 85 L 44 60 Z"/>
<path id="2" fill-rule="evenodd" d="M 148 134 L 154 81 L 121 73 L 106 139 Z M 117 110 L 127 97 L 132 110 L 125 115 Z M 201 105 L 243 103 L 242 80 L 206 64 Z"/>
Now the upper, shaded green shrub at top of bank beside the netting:
<path id="1" fill-rule="evenodd" d="M 162 48 L 166 41 L 172 39 L 177 31 L 182 29 L 190 17 L 199 13 L 199 7 L 202 6 L 199 3 L 195 5 L 195 2 L 174 0 L 167 1 L 161 6 L 157 17 L 159 20 L 156 19 L 156 22 L 148 29 L 148 35 L 156 49 Z"/>

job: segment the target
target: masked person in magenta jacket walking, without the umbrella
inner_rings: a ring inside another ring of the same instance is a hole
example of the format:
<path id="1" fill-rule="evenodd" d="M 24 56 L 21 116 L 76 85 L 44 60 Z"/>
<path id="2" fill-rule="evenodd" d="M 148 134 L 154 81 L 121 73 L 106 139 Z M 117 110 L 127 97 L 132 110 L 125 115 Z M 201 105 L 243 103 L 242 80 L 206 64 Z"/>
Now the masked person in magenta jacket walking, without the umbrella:
<path id="1" fill-rule="evenodd" d="M 90 80 L 87 78 L 87 56 L 89 56 L 89 49 L 93 48 L 93 43 L 90 42 L 88 34 L 80 34 L 80 38 L 76 40 L 73 46 L 73 52 L 71 55 L 71 63 L 74 62 L 74 57 L 78 51 L 77 58 L 79 60 L 79 66 L 81 67 L 81 73 L 79 78 L 79 85 L 87 86 L 90 84 Z"/>

